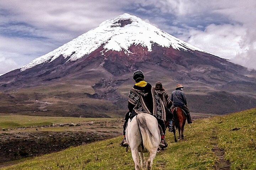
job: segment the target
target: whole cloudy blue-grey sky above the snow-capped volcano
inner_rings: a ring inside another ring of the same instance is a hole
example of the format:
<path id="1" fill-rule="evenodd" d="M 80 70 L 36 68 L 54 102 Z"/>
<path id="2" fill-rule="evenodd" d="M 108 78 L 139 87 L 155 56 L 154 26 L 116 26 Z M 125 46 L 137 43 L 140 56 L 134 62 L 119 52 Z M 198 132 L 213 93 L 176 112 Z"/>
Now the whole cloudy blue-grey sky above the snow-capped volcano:
<path id="1" fill-rule="evenodd" d="M 255 0 L 0 0 L 0 74 L 123 13 L 256 69 Z"/>

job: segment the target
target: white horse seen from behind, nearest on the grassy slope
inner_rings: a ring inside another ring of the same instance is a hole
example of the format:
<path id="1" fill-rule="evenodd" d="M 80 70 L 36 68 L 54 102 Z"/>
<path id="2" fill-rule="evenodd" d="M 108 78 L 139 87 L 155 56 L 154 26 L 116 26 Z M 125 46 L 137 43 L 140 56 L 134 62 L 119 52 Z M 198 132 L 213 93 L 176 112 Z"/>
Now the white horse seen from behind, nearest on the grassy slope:
<path id="1" fill-rule="evenodd" d="M 131 121 L 129 120 L 126 140 L 132 152 L 135 170 L 151 170 L 161 141 L 156 118 L 148 113 L 139 113 Z M 144 152 L 149 152 L 147 161 L 144 159 Z"/>

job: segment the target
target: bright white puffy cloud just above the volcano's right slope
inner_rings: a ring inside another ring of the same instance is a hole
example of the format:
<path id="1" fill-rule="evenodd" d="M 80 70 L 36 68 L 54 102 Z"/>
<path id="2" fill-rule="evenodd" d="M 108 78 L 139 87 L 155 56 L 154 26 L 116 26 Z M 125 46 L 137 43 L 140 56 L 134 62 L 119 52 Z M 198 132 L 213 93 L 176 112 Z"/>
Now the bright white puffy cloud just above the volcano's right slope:
<path id="1" fill-rule="evenodd" d="M 210 24 L 204 30 L 190 28 L 187 35 L 179 38 L 219 57 L 230 59 L 242 52 L 239 42 L 244 35 L 245 30 L 240 25 Z"/>

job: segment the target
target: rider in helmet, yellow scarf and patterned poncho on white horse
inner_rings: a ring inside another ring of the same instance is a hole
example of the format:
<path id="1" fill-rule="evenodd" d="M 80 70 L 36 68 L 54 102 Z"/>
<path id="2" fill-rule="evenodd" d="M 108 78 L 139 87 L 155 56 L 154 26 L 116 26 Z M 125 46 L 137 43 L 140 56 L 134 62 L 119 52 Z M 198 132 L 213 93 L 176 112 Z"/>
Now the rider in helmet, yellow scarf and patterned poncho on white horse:
<path id="1" fill-rule="evenodd" d="M 161 142 L 160 147 L 165 148 L 168 144 L 165 141 L 165 124 L 166 120 L 166 110 L 164 103 L 161 101 L 159 95 L 156 93 L 155 89 L 146 81 L 144 81 L 144 73 L 141 70 L 137 70 L 133 73 L 133 79 L 135 80 L 135 85 L 130 90 L 128 109 L 131 113 L 130 118 L 139 114 L 139 112 L 145 112 L 153 115 L 157 120 L 161 128 Z M 129 112 L 127 114 L 129 114 Z M 129 117 L 126 115 L 126 117 Z M 125 137 L 126 120 L 124 125 L 124 139 L 120 143 L 121 146 L 128 146 Z"/>

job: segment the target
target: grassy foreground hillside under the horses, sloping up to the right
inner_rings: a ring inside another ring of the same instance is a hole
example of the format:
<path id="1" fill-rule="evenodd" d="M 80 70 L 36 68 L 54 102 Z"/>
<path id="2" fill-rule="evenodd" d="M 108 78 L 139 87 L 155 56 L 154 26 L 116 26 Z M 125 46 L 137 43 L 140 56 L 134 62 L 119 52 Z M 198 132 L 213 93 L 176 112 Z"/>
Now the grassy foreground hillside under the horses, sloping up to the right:
<path id="1" fill-rule="evenodd" d="M 174 142 L 167 132 L 169 147 L 157 154 L 154 170 L 169 169 L 256 169 L 256 109 L 196 120 L 185 125 L 185 140 Z M 130 151 L 119 147 L 122 137 L 72 147 L 65 151 L 21 160 L 1 170 L 130 170 Z"/>

